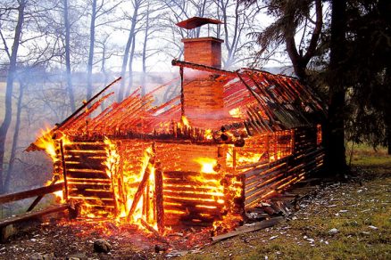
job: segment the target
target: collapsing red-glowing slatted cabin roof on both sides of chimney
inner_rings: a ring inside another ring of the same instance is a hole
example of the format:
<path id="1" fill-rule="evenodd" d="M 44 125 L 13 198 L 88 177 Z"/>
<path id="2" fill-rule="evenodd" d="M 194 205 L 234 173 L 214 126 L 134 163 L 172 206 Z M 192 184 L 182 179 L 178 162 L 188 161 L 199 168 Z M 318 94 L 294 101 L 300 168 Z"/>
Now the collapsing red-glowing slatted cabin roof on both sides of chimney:
<path id="1" fill-rule="evenodd" d="M 209 72 L 214 76 L 216 86 L 224 89 L 224 107 L 231 116 L 216 119 L 214 131 L 228 126 L 229 129 L 245 128 L 249 135 L 264 134 L 314 125 L 318 122 L 311 115 L 324 115 L 325 109 L 320 99 L 295 77 L 257 69 L 229 71 L 176 60 L 172 61 L 172 65 Z M 180 85 L 180 79 L 176 78 L 169 84 Z M 122 102 L 113 102 L 98 113 L 102 102 L 112 95 L 102 93 L 99 100 L 89 103 L 87 110 L 80 108 L 79 113 L 54 127 L 53 132 L 84 135 L 92 139 L 99 136 L 145 138 L 146 134 L 167 134 L 170 126 L 181 119 L 181 104 L 180 95 L 177 95 L 153 106 L 154 93 L 166 85 L 155 88 L 145 96 L 137 88 Z"/>

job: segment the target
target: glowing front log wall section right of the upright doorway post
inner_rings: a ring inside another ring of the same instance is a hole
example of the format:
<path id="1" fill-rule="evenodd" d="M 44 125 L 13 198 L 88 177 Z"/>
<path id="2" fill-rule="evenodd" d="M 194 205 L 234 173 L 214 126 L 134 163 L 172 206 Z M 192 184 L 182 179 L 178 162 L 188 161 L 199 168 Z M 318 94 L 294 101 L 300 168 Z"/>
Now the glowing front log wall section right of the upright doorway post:
<path id="1" fill-rule="evenodd" d="M 164 219 L 167 225 L 210 225 L 224 215 L 220 174 L 163 172 Z"/>

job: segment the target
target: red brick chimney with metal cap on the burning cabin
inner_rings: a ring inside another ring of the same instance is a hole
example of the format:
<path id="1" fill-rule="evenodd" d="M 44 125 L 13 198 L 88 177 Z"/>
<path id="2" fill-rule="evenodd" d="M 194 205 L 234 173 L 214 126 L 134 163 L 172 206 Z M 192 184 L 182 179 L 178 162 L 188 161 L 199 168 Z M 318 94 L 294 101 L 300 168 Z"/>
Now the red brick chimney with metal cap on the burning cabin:
<path id="1" fill-rule="evenodd" d="M 220 20 L 193 17 L 177 25 L 193 29 L 204 24 L 220 24 Z M 209 31 L 208 31 L 209 34 Z M 196 37 L 182 39 L 185 61 L 221 68 L 221 43 L 216 37 Z M 182 107 L 192 126 L 212 128 L 213 119 L 224 117 L 223 88 L 215 80 L 215 75 L 193 69 L 184 69 Z"/>

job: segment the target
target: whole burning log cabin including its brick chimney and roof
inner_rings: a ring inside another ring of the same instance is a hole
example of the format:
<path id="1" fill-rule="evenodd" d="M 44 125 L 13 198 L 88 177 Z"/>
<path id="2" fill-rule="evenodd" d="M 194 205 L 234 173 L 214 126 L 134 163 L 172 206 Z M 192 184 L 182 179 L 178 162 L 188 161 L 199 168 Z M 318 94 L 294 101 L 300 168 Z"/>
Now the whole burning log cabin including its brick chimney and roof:
<path id="1" fill-rule="evenodd" d="M 193 18 L 191 29 L 217 20 Z M 29 150 L 44 149 L 63 199 L 81 217 L 154 226 L 232 225 L 262 199 L 323 164 L 324 113 L 294 77 L 257 69 L 220 69 L 222 40 L 186 38 L 180 94 L 153 106 L 138 88 L 104 110 L 108 85 Z"/>

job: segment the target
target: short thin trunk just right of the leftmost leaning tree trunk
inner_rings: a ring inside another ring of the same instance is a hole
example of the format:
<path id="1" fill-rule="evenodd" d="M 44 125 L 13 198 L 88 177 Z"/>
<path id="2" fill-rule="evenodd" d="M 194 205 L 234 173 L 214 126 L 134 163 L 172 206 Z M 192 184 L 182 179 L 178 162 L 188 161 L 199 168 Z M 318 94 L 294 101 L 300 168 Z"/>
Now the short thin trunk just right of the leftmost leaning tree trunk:
<path id="1" fill-rule="evenodd" d="M 17 105 L 17 110 L 16 110 L 15 130 L 13 132 L 10 162 L 8 163 L 7 175 L 5 176 L 5 181 L 4 181 L 4 191 L 6 191 L 6 192 L 10 191 L 9 188 L 10 188 L 10 183 L 11 183 L 13 163 L 15 161 L 16 147 L 17 147 L 18 141 L 19 141 L 19 130 L 21 128 L 21 108 L 22 108 L 24 87 L 25 86 L 23 85 L 23 83 L 20 80 L 19 81 L 18 105 Z"/>

